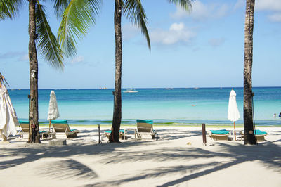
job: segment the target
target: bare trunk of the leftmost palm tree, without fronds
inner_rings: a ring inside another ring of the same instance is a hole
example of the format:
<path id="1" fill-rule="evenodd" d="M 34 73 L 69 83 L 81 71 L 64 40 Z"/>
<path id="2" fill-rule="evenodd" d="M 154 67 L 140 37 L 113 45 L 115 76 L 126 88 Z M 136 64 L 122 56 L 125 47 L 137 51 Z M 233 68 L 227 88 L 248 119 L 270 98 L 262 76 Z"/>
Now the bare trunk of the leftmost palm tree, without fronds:
<path id="1" fill-rule="evenodd" d="M 28 142 L 40 143 L 39 122 L 38 122 L 38 61 L 35 40 L 36 33 L 36 18 L 35 5 L 36 0 L 29 0 L 29 27 L 30 43 L 28 46 L 30 58 L 30 134 Z"/>

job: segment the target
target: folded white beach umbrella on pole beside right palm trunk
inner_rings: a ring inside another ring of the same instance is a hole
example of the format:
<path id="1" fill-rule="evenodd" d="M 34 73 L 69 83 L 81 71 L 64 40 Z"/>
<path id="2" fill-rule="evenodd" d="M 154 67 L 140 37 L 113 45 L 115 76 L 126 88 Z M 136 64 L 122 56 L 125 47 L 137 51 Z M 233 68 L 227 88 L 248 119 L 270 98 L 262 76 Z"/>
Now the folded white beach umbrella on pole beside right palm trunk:
<path id="1" fill-rule="evenodd" d="M 234 137 L 236 140 L 235 133 L 235 122 L 240 118 L 239 110 L 236 103 L 236 93 L 234 90 L 230 91 L 229 103 L 228 103 L 228 120 L 234 122 Z"/>

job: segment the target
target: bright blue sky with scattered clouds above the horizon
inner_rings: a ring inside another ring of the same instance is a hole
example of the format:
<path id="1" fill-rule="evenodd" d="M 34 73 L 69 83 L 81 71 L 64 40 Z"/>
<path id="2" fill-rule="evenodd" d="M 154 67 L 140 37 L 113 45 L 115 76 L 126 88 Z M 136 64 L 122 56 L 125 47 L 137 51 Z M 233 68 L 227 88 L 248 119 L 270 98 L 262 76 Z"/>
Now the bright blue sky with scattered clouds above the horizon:
<path id="1" fill-rule="evenodd" d="M 151 51 L 141 32 L 122 17 L 122 88 L 242 87 L 246 0 L 200 0 L 192 11 L 166 0 L 143 0 Z M 56 35 L 60 20 L 48 1 Z M 114 88 L 114 1 L 106 0 L 88 34 L 77 41 L 77 56 L 63 71 L 48 65 L 39 49 L 39 89 Z M 9 89 L 29 89 L 28 8 L 0 22 L 0 72 Z M 281 86 L 281 1 L 256 0 L 253 86 Z"/>

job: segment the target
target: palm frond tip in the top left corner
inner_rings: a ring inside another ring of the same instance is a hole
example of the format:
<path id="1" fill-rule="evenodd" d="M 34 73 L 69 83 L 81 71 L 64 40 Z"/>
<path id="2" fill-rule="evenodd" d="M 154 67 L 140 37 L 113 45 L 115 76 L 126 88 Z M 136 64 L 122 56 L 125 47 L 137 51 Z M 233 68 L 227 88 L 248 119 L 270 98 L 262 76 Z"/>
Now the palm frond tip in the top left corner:
<path id="1" fill-rule="evenodd" d="M 21 6 L 22 0 L 0 0 L 0 20 L 13 18 Z"/>

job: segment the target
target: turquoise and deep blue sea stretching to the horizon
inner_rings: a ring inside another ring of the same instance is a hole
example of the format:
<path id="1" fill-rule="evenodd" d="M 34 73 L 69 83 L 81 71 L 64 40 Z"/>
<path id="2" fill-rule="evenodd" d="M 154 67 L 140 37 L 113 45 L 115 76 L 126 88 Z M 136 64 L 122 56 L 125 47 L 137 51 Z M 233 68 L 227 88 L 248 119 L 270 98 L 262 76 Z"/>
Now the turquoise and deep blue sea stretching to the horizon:
<path id="1" fill-rule="evenodd" d="M 136 119 L 153 120 L 154 124 L 233 125 L 228 120 L 231 89 L 237 97 L 243 124 L 243 88 L 157 88 L 136 89 L 123 93 L 122 124 L 136 124 Z M 70 124 L 112 124 L 113 89 L 54 89 L 60 117 Z M 256 125 L 280 126 L 281 87 L 254 87 L 254 122 Z M 39 122 L 48 123 L 51 89 L 39 89 Z M 19 120 L 27 120 L 30 90 L 8 90 Z M 276 117 L 274 117 L 276 114 Z"/>

